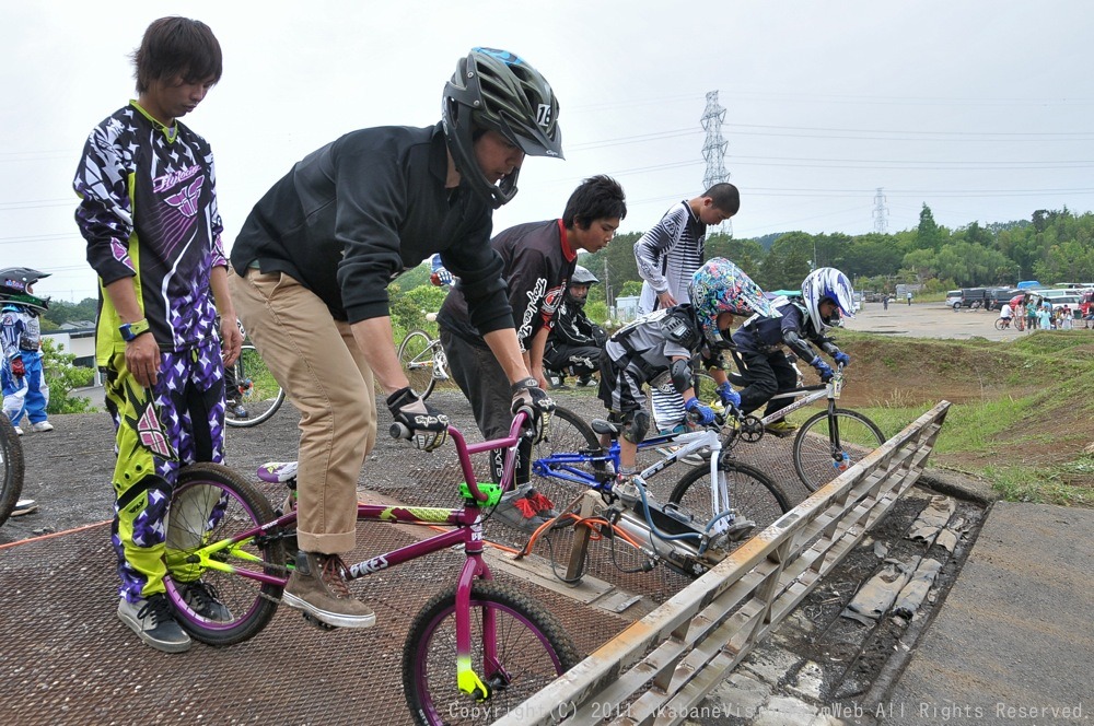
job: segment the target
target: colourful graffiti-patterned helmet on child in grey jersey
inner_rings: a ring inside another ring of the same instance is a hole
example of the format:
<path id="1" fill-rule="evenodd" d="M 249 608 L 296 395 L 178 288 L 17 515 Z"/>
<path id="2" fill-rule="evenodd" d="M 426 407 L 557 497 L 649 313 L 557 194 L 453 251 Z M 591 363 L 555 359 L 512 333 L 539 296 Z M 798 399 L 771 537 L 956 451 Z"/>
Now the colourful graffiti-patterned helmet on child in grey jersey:
<path id="1" fill-rule="evenodd" d="M 699 318 L 699 327 L 711 346 L 724 346 L 725 340 L 718 329 L 720 313 L 752 315 L 759 313 L 767 317 L 776 314 L 752 278 L 725 259 L 715 257 L 708 260 L 691 276 L 689 286 L 691 306 Z"/>

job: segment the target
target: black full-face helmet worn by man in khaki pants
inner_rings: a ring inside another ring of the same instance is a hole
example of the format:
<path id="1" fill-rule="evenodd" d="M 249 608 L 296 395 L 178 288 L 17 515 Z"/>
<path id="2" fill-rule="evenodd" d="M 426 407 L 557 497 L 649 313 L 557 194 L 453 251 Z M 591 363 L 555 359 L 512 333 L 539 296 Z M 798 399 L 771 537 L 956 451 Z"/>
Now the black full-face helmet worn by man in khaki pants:
<path id="1" fill-rule="evenodd" d="M 475 159 L 476 128 L 497 131 L 528 156 L 562 159 L 558 99 L 550 84 L 507 50 L 473 48 L 459 59 L 444 86 L 441 120 L 461 177 L 494 209 L 516 195 L 521 169 L 490 184 Z"/>

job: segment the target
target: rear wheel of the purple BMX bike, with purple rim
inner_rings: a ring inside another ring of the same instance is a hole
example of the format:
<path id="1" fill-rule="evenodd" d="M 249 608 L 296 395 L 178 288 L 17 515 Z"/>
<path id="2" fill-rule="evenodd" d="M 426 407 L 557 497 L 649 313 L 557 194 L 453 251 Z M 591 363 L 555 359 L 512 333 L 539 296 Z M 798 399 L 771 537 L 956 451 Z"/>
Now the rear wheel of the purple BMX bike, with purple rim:
<path id="1" fill-rule="evenodd" d="M 178 472 L 167 515 L 167 597 L 178 624 L 209 645 L 232 645 L 256 635 L 274 617 L 282 585 L 244 577 L 234 567 L 287 577 L 284 547 L 265 532 L 221 549 L 214 559 L 225 570 L 202 569 L 189 555 L 271 522 L 274 511 L 247 480 L 219 464 L 194 464 Z M 184 596 L 184 583 L 200 578 L 230 613 L 213 620 L 197 612 Z"/>

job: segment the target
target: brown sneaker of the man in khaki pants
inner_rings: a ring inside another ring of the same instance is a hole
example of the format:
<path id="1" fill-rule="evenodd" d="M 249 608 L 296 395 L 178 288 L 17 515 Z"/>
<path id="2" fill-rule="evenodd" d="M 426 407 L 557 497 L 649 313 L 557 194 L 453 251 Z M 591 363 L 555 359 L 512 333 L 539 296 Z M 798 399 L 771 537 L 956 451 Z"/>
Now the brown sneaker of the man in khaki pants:
<path id="1" fill-rule="evenodd" d="M 346 565 L 337 554 L 298 552 L 296 569 L 281 600 L 336 628 L 376 624 L 376 613 L 356 599 L 346 586 Z"/>

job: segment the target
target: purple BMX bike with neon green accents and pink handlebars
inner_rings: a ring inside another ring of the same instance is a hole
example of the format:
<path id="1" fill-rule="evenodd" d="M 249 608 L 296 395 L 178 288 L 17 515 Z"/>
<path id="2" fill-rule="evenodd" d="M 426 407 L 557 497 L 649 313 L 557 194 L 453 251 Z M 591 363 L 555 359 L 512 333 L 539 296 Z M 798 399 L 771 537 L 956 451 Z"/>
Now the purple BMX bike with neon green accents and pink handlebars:
<path id="1" fill-rule="evenodd" d="M 492 721 L 580 659 L 559 621 L 529 595 L 496 582 L 482 558 L 482 523 L 512 484 L 516 446 L 528 435 L 527 421 L 522 410 L 509 437 L 478 444 L 467 444 L 459 431 L 449 429 L 465 480 L 459 508 L 358 504 L 358 522 L 446 528 L 350 565 L 350 579 L 451 548 L 466 554 L 455 582 L 426 602 L 404 643 L 404 692 L 420 724 L 445 723 L 454 712 Z M 393 426 L 392 434 L 405 432 Z M 470 455 L 498 448 L 507 450 L 501 483 L 476 482 Z M 284 481 L 290 490 L 295 487 L 292 465 L 267 465 L 259 476 Z M 240 643 L 274 617 L 294 562 L 293 501 L 290 495 L 288 511 L 275 512 L 254 484 L 214 464 L 193 465 L 179 473 L 167 527 L 167 595 L 193 637 L 210 645 Z M 179 584 L 198 578 L 228 608 L 223 620 L 203 617 L 183 598 Z M 314 620 L 311 624 L 329 628 Z M 474 705 L 479 707 L 468 707 Z"/>

